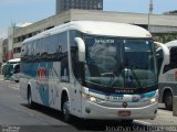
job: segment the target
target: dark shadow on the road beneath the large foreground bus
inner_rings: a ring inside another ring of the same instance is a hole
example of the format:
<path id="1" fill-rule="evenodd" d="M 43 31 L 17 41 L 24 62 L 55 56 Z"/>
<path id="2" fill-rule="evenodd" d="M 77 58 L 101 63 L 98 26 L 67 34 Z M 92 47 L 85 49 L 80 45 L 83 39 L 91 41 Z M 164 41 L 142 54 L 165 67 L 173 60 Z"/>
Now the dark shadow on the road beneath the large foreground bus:
<path id="1" fill-rule="evenodd" d="M 28 105 L 22 103 L 21 106 L 23 107 L 28 107 Z M 30 108 L 29 108 L 30 109 Z M 35 105 L 34 109 L 35 111 L 42 112 L 46 116 L 50 116 L 54 119 L 58 119 L 62 122 L 64 122 L 63 118 L 62 118 L 62 112 L 58 111 L 58 110 L 53 110 L 50 109 L 48 107 L 43 107 L 40 105 Z M 133 131 L 134 128 L 136 127 L 142 127 L 145 128 L 145 125 L 142 124 L 137 124 L 137 123 L 132 123 L 132 124 L 126 124 L 125 122 L 122 123 L 121 121 L 112 121 L 112 120 L 83 120 L 83 119 L 79 119 L 73 117 L 73 120 L 71 123 L 67 123 L 69 127 L 63 127 L 62 129 L 65 130 L 72 130 L 73 131 Z M 34 127 L 34 128 L 40 128 L 40 129 L 44 129 L 45 127 Z M 59 127 L 51 127 L 49 129 L 60 129 L 60 124 Z M 48 129 L 45 129 L 48 130 Z M 127 132 L 128 132 L 127 131 Z M 51 132 L 51 131 L 50 131 Z"/>

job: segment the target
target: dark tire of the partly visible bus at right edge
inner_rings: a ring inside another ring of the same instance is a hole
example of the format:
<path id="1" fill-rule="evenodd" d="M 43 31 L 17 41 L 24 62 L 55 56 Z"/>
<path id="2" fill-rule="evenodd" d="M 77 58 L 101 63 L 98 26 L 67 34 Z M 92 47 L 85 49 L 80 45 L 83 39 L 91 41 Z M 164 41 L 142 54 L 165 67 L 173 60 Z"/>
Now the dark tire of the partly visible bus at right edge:
<path id="1" fill-rule="evenodd" d="M 167 110 L 173 110 L 173 95 L 170 91 L 167 91 L 164 96 L 164 102 Z"/>

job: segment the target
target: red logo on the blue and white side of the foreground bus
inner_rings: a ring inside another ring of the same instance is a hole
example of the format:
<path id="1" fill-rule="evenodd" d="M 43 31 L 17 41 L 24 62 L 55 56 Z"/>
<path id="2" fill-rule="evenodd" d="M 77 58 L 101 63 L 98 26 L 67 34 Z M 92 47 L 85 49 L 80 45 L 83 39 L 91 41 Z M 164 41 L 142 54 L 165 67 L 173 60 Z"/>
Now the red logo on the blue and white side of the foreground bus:
<path id="1" fill-rule="evenodd" d="M 48 69 L 44 67 L 39 67 L 37 69 L 38 85 L 45 85 L 46 84 L 46 76 L 48 76 Z"/>

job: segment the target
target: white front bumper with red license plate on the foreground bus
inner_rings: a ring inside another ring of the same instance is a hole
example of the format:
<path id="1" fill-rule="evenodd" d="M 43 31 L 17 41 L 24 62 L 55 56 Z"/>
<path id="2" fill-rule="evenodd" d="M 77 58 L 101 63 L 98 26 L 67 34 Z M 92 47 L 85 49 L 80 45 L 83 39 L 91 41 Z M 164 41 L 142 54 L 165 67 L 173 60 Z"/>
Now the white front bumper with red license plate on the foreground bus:
<path id="1" fill-rule="evenodd" d="M 131 119 L 155 119 L 158 103 L 152 103 L 140 108 L 108 108 L 91 101 L 82 105 L 82 117 L 84 119 L 100 120 L 131 120 Z M 126 114 L 128 113 L 128 114 Z"/>

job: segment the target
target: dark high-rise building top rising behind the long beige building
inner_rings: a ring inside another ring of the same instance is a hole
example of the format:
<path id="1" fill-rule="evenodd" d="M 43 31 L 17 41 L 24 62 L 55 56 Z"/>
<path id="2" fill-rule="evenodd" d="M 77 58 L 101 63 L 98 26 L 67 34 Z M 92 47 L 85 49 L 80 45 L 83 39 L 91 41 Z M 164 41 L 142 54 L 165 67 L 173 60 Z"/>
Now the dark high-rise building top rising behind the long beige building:
<path id="1" fill-rule="evenodd" d="M 70 9 L 103 10 L 103 0 L 56 0 L 56 13 Z"/>

